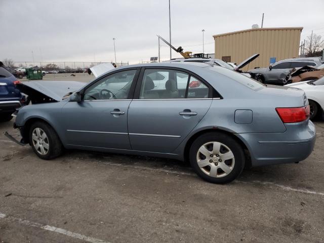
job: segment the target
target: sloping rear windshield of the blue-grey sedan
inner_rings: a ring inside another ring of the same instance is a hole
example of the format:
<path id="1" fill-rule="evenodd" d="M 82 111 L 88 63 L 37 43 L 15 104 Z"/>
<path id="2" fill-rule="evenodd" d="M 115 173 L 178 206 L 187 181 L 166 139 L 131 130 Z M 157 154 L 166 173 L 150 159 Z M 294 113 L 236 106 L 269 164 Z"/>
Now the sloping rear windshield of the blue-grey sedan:
<path id="1" fill-rule="evenodd" d="M 227 68 L 221 68 L 221 67 L 215 67 L 215 66 L 210 66 L 207 68 L 209 68 L 212 71 L 223 74 L 223 75 L 233 79 L 234 81 L 248 87 L 251 90 L 257 90 L 257 89 L 265 87 L 265 85 L 261 84 L 257 80 L 255 80 L 251 77 L 247 77 L 246 75 L 243 75 L 236 71 L 229 70 Z"/>

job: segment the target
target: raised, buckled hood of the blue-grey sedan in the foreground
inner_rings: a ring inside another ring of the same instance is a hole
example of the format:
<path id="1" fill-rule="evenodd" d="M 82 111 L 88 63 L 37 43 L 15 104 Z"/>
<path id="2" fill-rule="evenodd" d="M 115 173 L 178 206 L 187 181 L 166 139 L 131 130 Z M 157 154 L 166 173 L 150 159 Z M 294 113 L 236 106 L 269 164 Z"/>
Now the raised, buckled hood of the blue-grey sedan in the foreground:
<path id="1" fill-rule="evenodd" d="M 45 96 L 51 100 L 61 101 L 63 96 L 73 93 L 85 85 L 83 82 L 76 81 L 28 81 L 17 84 L 17 89 L 30 97 Z"/>

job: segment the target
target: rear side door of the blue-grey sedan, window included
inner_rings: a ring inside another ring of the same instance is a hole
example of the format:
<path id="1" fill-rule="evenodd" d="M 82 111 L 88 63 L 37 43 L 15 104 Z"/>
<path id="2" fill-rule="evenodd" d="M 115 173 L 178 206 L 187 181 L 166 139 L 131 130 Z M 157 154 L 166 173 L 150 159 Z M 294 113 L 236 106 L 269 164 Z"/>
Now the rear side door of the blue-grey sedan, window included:
<path id="1" fill-rule="evenodd" d="M 152 73 L 161 73 L 168 80 L 155 87 Z M 211 97 L 212 88 L 193 73 L 143 68 L 128 113 L 132 149 L 172 153 L 204 117 Z"/>

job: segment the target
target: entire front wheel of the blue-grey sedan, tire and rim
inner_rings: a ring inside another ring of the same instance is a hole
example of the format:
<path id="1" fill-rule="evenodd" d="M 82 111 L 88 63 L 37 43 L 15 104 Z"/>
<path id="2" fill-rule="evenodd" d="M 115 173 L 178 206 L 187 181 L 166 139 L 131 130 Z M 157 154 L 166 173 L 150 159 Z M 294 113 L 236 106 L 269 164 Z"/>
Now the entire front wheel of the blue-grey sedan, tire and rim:
<path id="1" fill-rule="evenodd" d="M 29 144 L 35 154 L 42 159 L 53 159 L 61 155 L 63 146 L 54 129 L 37 121 L 29 129 Z"/>

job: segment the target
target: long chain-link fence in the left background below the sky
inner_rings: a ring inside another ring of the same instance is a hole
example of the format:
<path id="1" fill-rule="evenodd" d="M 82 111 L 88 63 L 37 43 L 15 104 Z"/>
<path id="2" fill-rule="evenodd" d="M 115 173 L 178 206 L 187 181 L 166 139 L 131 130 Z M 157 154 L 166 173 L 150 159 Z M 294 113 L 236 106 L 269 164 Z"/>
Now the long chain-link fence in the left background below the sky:
<path id="1" fill-rule="evenodd" d="M 43 71 L 52 71 L 54 73 L 77 73 L 86 72 L 88 68 L 100 63 L 112 62 L 10 62 L 9 66 L 11 68 L 38 66 Z M 117 67 L 127 66 L 129 62 L 117 62 L 116 65 Z"/>

